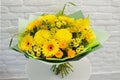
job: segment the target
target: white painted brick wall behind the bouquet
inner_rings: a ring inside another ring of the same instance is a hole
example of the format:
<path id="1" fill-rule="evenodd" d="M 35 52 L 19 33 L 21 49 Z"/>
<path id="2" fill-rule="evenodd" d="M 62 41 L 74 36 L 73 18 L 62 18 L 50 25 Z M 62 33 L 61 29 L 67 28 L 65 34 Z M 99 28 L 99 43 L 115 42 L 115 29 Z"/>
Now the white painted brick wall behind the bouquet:
<path id="1" fill-rule="evenodd" d="M 120 80 L 120 0 L 0 0 L 0 80 L 26 78 L 24 56 L 8 48 L 10 34 L 17 32 L 18 18 L 54 13 L 68 1 L 77 7 L 67 6 L 66 13 L 81 9 L 90 16 L 91 26 L 111 34 L 104 48 L 87 56 L 93 67 L 90 80 Z"/>

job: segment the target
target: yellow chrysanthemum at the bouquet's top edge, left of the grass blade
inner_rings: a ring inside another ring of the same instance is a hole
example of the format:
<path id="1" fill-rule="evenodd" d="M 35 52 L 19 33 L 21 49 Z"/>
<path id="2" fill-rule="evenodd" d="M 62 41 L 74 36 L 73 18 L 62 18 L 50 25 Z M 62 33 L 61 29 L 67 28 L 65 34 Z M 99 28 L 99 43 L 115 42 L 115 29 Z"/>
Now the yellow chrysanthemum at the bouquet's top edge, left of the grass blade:
<path id="1" fill-rule="evenodd" d="M 42 20 L 46 23 L 54 24 L 56 21 L 56 16 L 53 14 L 47 14 L 42 17 Z"/>

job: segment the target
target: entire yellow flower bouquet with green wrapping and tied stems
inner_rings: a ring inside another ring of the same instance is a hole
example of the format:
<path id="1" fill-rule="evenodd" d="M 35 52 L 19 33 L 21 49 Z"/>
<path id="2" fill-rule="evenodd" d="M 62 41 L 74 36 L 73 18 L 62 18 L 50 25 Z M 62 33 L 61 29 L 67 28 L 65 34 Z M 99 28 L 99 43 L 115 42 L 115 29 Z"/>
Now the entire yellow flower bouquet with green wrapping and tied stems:
<path id="1" fill-rule="evenodd" d="M 75 5 L 69 2 L 72 5 Z M 52 71 L 62 77 L 73 71 L 70 61 L 80 60 L 100 47 L 90 27 L 90 19 L 81 11 L 66 15 L 66 4 L 57 14 L 42 14 L 19 20 L 18 43 L 10 48 L 27 58 L 53 64 Z M 27 22 L 27 23 L 26 23 Z"/>

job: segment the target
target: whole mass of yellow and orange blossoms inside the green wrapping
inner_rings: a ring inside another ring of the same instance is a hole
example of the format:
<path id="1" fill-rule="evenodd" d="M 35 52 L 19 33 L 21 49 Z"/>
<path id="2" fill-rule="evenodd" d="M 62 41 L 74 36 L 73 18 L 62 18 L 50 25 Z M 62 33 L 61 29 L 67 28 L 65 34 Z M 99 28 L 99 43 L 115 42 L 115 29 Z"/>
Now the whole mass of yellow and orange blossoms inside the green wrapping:
<path id="1" fill-rule="evenodd" d="M 89 18 L 46 14 L 28 24 L 18 47 L 38 58 L 73 58 L 95 39 Z"/>

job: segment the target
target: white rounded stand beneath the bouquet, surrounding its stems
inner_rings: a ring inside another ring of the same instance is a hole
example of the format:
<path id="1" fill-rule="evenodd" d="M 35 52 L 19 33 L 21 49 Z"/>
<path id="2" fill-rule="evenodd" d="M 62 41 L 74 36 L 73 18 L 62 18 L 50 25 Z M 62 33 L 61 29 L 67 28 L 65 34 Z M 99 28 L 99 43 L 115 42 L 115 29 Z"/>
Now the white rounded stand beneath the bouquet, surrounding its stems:
<path id="1" fill-rule="evenodd" d="M 50 70 L 51 65 L 44 64 L 38 60 L 28 59 L 27 72 L 29 80 L 88 80 L 91 73 L 91 64 L 87 58 L 71 62 L 74 72 L 61 78 Z"/>

